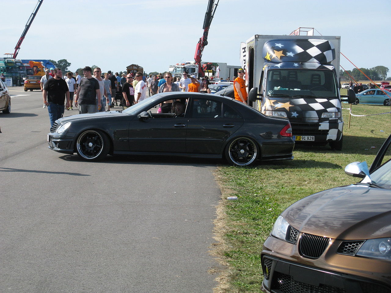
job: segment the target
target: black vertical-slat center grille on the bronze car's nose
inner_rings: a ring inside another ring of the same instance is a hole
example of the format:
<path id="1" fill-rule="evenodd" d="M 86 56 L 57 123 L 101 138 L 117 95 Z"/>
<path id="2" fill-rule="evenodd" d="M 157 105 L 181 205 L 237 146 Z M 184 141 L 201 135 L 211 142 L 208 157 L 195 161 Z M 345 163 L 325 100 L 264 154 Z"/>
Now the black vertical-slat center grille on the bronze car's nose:
<path id="1" fill-rule="evenodd" d="M 299 241 L 299 252 L 311 259 L 320 257 L 330 243 L 330 238 L 304 233 Z"/>

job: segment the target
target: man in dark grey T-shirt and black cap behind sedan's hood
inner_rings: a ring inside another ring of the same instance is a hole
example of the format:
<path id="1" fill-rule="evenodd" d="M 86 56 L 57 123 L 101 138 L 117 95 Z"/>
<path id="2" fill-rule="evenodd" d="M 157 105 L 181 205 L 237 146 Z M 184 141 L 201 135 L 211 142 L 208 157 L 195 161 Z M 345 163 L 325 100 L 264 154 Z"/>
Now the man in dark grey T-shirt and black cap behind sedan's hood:
<path id="1" fill-rule="evenodd" d="M 95 113 L 101 107 L 100 99 L 97 101 L 97 96 L 100 95 L 99 82 L 91 75 L 92 69 L 86 66 L 83 69 L 84 77 L 80 80 L 79 88 L 76 91 L 75 106 L 79 104 L 79 114 Z"/>

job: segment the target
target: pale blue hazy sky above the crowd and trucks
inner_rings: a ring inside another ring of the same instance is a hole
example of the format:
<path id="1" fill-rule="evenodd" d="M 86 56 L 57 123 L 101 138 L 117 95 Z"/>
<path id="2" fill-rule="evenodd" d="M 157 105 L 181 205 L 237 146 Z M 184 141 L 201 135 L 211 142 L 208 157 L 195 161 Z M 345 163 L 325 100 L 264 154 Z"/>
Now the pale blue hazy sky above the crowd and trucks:
<path id="1" fill-rule="evenodd" d="M 14 9 L 2 8 L 6 13 L 0 55 L 14 52 L 36 3 L 13 0 Z M 194 61 L 207 4 L 208 0 L 44 0 L 18 58 L 67 59 L 72 71 L 86 65 L 100 66 L 104 72 L 124 71 L 129 64 L 139 64 L 147 73 L 167 71 L 171 64 Z M 240 65 L 240 42 L 252 35 L 314 27 L 324 36 L 341 36 L 341 52 L 359 68 L 383 65 L 391 70 L 390 16 L 386 0 L 220 0 L 202 60 Z M 353 69 L 343 56 L 341 65 Z"/>

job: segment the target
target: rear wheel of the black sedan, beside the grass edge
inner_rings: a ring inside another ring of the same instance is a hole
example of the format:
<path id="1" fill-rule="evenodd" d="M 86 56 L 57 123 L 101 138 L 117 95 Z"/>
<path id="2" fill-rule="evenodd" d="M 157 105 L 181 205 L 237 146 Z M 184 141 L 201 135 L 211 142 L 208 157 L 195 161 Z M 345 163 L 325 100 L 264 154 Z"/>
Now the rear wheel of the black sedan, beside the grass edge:
<path id="1" fill-rule="evenodd" d="M 235 138 L 228 143 L 225 149 L 227 161 L 234 166 L 254 164 L 258 155 L 258 145 L 251 138 Z"/>

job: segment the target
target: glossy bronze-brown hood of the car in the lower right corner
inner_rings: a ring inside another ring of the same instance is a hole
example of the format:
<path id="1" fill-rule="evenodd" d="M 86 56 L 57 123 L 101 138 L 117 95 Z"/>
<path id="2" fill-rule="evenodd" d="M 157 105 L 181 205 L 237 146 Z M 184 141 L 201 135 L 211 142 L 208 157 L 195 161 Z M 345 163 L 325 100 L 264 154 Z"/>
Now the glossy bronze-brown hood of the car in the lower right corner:
<path id="1" fill-rule="evenodd" d="M 282 216 L 300 232 L 333 239 L 391 237 L 391 191 L 357 185 L 328 189 L 299 200 Z"/>

